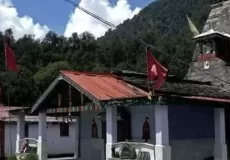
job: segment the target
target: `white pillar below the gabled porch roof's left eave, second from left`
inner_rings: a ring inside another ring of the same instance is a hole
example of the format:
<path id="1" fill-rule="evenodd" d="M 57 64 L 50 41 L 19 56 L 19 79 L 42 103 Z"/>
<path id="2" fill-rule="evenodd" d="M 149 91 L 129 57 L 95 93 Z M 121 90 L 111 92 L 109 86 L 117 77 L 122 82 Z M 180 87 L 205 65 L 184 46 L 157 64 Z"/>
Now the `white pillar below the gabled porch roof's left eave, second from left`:
<path id="1" fill-rule="evenodd" d="M 37 154 L 39 160 L 47 160 L 46 112 L 39 112 L 38 120 Z"/>

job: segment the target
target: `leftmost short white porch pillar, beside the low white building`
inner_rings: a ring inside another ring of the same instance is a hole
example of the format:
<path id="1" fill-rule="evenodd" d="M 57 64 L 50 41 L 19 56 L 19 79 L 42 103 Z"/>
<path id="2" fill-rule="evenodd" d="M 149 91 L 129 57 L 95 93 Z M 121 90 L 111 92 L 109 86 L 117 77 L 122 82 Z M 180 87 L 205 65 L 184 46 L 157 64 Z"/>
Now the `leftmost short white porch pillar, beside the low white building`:
<path id="1" fill-rule="evenodd" d="M 25 137 L 25 115 L 17 115 L 16 153 L 20 152 L 20 140 Z"/>

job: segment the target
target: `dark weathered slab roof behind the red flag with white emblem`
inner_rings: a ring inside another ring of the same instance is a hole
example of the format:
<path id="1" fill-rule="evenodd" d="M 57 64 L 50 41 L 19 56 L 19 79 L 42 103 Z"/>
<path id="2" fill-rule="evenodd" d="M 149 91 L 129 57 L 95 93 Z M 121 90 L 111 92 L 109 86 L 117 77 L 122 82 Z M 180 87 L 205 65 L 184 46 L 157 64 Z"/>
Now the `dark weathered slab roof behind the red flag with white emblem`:
<path id="1" fill-rule="evenodd" d="M 138 88 L 148 91 L 147 77 L 135 77 L 124 76 L 123 80 Z M 151 82 L 154 85 L 155 82 Z M 165 83 L 160 90 L 155 92 L 156 94 L 166 95 L 182 95 L 182 96 L 199 96 L 199 97 L 214 97 L 229 99 L 230 92 L 212 85 L 211 82 L 200 82 L 194 80 L 181 79 L 176 76 L 170 75 L 167 77 Z"/>

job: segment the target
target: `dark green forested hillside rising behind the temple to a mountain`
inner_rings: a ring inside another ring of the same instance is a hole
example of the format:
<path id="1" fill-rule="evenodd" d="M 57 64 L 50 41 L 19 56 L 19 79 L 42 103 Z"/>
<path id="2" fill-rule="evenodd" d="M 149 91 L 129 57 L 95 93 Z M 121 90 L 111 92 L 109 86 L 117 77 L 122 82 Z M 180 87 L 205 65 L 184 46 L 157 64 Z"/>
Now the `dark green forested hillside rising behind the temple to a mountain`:
<path id="1" fill-rule="evenodd" d="M 160 62 L 168 65 L 172 74 L 183 77 L 188 66 L 178 63 L 176 59 L 189 63 L 194 49 L 186 14 L 201 31 L 213 2 L 159 0 L 98 40 L 87 32 L 81 35 L 74 33 L 70 38 L 49 32 L 43 40 L 34 40 L 32 35 L 26 35 L 16 41 L 12 30 L 8 29 L 0 33 L 0 41 L 8 41 L 14 50 L 19 73 L 5 71 L 4 46 L 0 43 L 3 100 L 7 102 L 8 89 L 11 105 L 31 106 L 59 74 L 59 70 L 64 69 L 145 72 L 145 46 L 135 38 L 167 52 L 170 56 L 151 49 Z M 127 33 L 132 36 L 127 36 Z"/>

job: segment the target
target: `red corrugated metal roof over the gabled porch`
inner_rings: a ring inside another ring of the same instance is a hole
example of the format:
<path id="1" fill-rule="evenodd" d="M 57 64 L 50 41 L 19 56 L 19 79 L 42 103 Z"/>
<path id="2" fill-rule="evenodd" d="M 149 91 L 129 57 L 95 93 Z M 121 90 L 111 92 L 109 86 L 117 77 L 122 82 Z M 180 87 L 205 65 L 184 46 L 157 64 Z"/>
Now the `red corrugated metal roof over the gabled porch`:
<path id="1" fill-rule="evenodd" d="M 112 74 L 96 74 L 84 72 L 61 71 L 76 85 L 90 93 L 97 100 L 146 97 L 147 92 L 125 83 Z"/>

